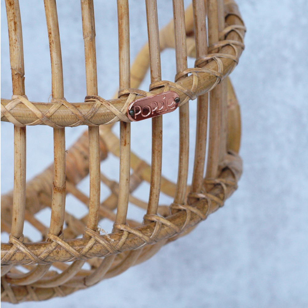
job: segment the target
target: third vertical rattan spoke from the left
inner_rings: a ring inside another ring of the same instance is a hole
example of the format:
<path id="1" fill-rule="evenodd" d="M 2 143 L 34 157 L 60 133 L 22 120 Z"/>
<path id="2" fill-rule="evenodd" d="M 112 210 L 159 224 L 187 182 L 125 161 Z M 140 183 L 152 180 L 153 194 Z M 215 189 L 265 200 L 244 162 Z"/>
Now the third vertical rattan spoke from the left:
<path id="1" fill-rule="evenodd" d="M 87 95 L 97 95 L 95 20 L 92 0 L 81 0 L 84 55 L 86 63 Z M 89 132 L 89 173 L 90 200 L 87 228 L 96 230 L 100 204 L 100 153 L 99 127 L 90 127 Z"/>

